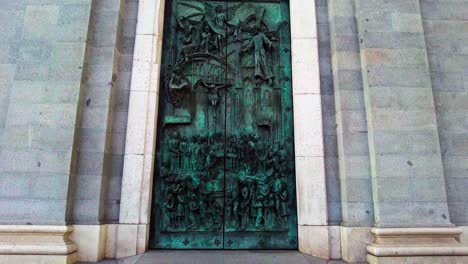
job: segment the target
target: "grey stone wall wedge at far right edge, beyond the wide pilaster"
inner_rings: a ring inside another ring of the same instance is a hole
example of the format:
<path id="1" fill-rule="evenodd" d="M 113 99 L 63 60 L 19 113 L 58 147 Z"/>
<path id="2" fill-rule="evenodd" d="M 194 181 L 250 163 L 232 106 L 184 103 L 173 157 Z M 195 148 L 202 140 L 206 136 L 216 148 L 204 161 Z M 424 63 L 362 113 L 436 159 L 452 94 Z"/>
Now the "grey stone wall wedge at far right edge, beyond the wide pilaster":
<path id="1" fill-rule="evenodd" d="M 468 2 L 421 0 L 450 217 L 468 224 Z"/>

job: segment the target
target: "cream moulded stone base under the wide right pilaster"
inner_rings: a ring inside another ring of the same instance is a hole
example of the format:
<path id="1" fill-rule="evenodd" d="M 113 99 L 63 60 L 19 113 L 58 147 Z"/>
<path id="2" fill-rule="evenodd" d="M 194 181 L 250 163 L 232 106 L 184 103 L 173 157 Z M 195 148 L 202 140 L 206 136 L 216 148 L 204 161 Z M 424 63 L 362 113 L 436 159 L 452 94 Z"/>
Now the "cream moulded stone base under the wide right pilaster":
<path id="1" fill-rule="evenodd" d="M 460 228 L 373 228 L 367 247 L 370 264 L 468 263 Z"/>

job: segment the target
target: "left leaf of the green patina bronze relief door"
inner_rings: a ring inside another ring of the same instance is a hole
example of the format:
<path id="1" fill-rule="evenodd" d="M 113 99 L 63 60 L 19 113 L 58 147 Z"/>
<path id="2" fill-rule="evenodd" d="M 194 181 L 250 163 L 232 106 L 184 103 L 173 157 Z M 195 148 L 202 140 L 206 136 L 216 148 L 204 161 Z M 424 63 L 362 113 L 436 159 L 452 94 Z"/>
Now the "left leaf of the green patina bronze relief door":
<path id="1" fill-rule="evenodd" d="M 224 1 L 166 5 L 154 248 L 223 247 L 226 7 Z"/>

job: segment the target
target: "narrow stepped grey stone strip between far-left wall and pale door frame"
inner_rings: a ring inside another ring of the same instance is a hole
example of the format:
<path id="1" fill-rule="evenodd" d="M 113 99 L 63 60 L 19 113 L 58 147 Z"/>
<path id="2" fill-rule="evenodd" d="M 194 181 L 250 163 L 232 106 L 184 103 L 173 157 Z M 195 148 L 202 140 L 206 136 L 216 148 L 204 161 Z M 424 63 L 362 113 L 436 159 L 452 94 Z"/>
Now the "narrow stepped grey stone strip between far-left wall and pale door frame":
<path id="1" fill-rule="evenodd" d="M 91 13 L 73 222 L 119 219 L 137 0 L 95 1 Z"/>

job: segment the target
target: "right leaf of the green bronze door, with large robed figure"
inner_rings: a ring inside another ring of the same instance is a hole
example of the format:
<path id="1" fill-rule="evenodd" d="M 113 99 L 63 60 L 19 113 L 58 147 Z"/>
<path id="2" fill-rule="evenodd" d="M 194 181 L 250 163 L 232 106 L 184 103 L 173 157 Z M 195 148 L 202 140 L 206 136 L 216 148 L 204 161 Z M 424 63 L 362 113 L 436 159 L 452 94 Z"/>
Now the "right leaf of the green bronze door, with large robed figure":
<path id="1" fill-rule="evenodd" d="M 228 1 L 224 247 L 297 247 L 291 58 L 285 1 Z"/>

